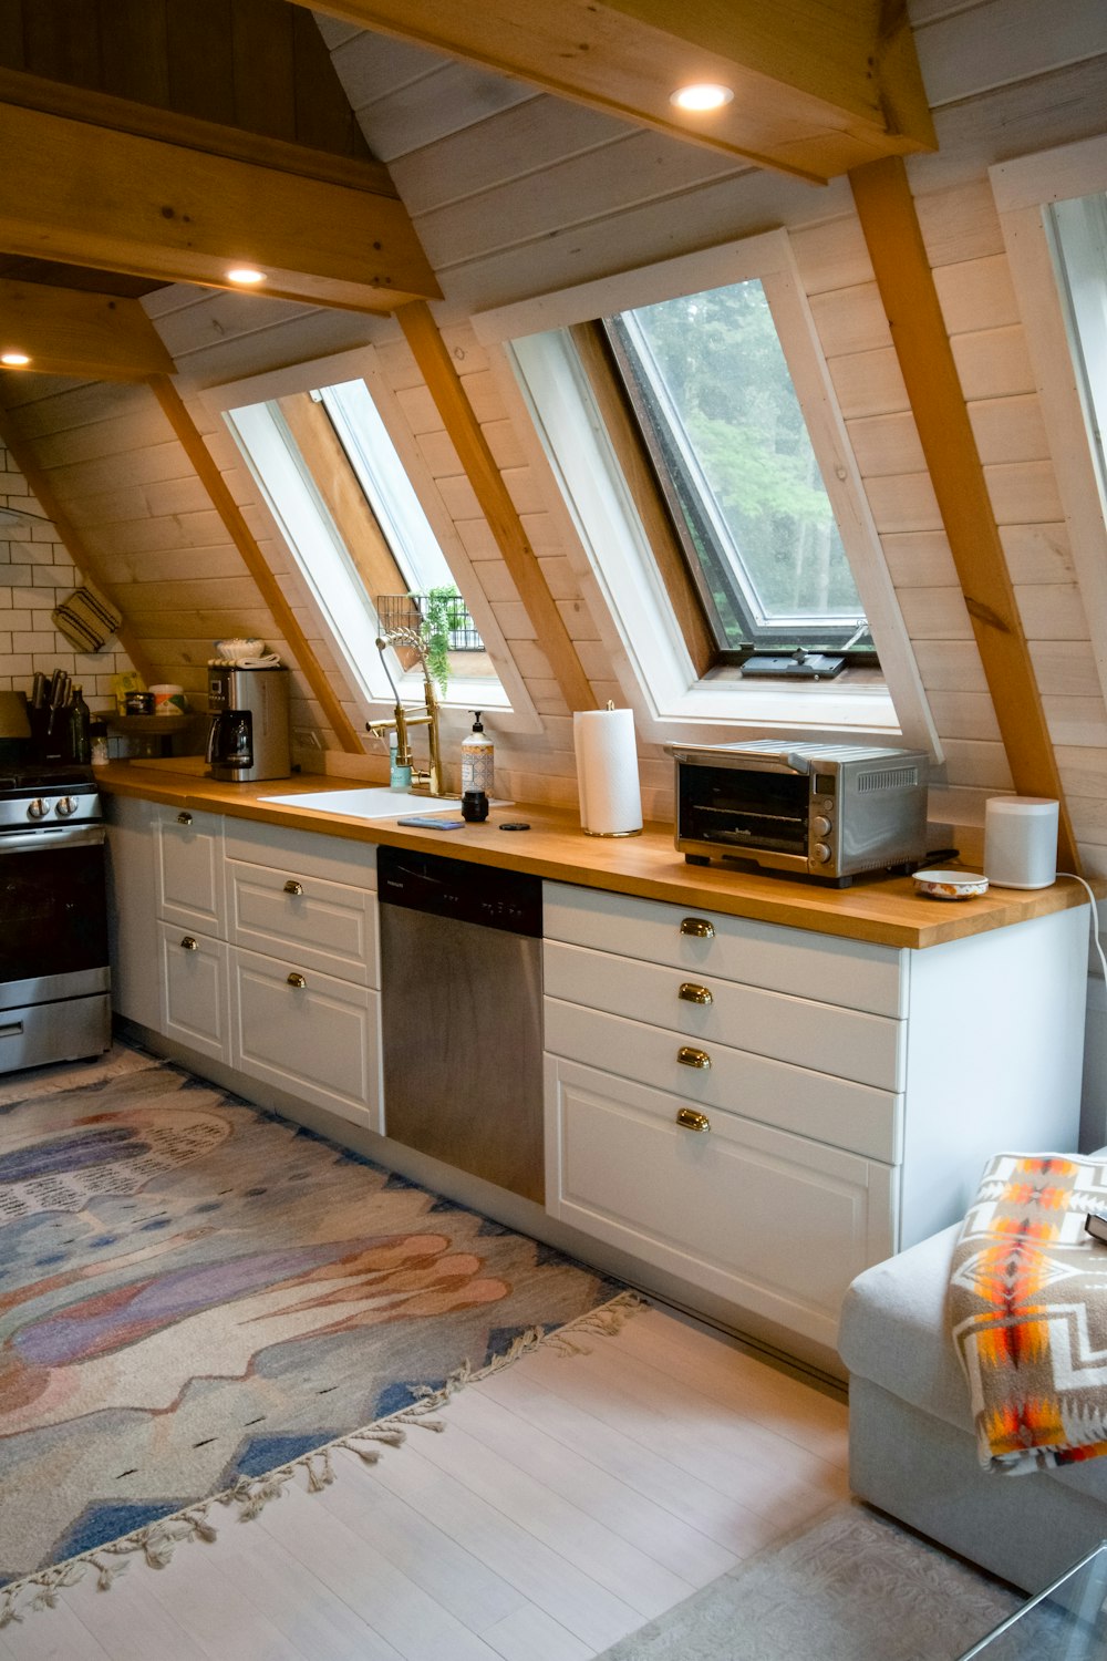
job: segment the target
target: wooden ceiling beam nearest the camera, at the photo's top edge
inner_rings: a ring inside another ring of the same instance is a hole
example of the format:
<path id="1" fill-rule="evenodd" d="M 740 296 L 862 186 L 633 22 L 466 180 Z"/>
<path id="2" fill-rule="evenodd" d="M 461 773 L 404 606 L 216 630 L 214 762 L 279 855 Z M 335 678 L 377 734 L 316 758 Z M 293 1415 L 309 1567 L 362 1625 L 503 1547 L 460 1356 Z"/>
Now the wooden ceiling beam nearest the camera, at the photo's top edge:
<path id="1" fill-rule="evenodd" d="M 938 146 L 901 0 L 294 3 L 813 183 Z M 734 100 L 677 111 L 690 81 Z"/>

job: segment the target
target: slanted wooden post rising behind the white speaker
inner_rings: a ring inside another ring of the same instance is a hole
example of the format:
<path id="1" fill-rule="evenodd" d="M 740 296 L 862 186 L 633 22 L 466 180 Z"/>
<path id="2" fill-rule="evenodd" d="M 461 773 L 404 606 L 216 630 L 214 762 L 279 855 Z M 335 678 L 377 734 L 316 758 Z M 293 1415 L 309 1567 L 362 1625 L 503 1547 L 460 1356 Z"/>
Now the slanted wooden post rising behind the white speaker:
<path id="1" fill-rule="evenodd" d="M 1021 796 L 1061 802 L 1057 854 L 1079 872 L 1072 822 L 1022 633 L 996 515 L 900 156 L 850 174 L 861 231 L 911 400 L 1011 777 Z"/>

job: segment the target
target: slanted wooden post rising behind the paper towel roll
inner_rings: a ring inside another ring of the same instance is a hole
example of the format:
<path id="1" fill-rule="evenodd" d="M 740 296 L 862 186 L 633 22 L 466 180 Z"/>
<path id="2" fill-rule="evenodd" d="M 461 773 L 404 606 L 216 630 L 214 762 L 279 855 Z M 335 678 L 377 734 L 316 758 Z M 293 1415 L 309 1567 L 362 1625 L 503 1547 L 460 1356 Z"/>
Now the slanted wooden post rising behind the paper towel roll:
<path id="1" fill-rule="evenodd" d="M 430 306 L 425 301 L 413 301 L 410 306 L 402 306 L 397 311 L 397 322 L 415 354 L 415 362 L 438 407 L 446 435 L 458 452 L 461 467 L 488 520 L 490 530 L 496 538 L 503 563 L 508 566 L 511 580 L 519 591 L 526 615 L 534 625 L 538 644 L 549 658 L 549 666 L 566 704 L 569 709 L 594 709 L 596 696 L 581 668 L 573 636 L 564 626 L 564 620 L 549 593 L 543 568 L 523 530 L 508 487 L 500 475 L 500 468 L 488 448 L 488 440 L 473 414 L 473 405 L 465 395 L 460 375 L 453 367 Z"/>

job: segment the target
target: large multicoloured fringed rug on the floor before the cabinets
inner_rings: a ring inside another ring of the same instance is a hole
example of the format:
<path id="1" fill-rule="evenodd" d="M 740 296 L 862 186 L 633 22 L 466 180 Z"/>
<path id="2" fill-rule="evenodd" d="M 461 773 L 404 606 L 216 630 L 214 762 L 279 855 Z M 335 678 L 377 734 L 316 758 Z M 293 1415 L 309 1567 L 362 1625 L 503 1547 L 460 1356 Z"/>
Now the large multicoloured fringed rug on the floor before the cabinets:
<path id="1" fill-rule="evenodd" d="M 131 1051 L 0 1101 L 0 1623 L 614 1330 L 616 1282 Z"/>

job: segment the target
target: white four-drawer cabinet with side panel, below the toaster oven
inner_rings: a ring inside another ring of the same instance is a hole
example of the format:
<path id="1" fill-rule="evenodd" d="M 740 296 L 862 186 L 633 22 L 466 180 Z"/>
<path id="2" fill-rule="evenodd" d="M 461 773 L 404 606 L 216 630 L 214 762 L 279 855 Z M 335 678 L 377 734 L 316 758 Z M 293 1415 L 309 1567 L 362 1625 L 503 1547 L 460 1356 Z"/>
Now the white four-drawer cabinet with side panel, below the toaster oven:
<path id="1" fill-rule="evenodd" d="M 1075 1146 L 1082 909 L 900 950 L 544 892 L 548 1211 L 740 1311 L 833 1345 L 996 1151 Z"/>

